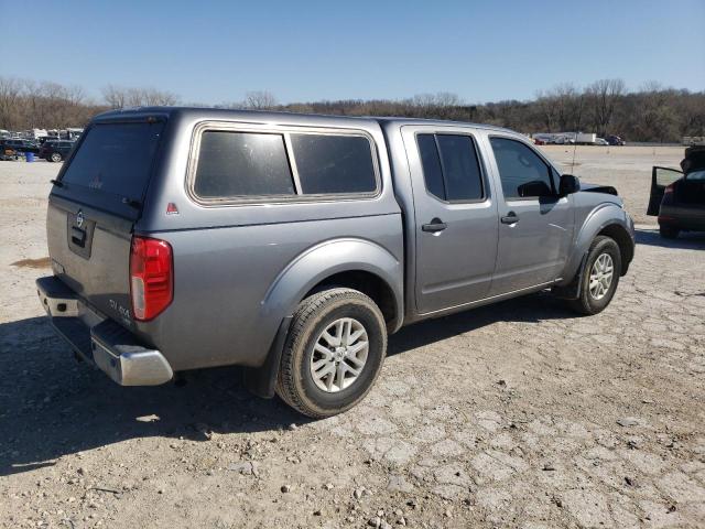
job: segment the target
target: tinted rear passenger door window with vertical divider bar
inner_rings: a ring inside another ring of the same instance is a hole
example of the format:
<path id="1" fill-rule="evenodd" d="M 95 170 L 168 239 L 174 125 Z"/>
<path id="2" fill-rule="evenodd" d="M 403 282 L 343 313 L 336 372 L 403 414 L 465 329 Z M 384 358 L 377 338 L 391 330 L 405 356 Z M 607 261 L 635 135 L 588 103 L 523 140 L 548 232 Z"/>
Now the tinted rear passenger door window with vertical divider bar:
<path id="1" fill-rule="evenodd" d="M 419 134 L 416 141 L 429 193 L 447 202 L 482 198 L 482 173 L 469 136 Z"/>

